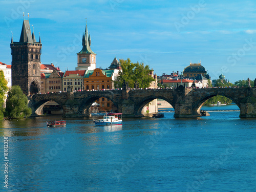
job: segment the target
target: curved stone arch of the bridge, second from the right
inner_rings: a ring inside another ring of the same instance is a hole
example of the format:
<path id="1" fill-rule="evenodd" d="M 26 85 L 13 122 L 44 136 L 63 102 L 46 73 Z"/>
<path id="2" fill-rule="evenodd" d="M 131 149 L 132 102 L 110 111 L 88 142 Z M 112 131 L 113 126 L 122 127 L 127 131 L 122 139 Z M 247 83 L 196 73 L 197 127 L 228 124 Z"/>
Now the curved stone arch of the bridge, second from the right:
<path id="1" fill-rule="evenodd" d="M 174 104 L 174 101 L 173 100 L 170 100 L 168 98 L 165 98 L 163 96 L 154 96 L 154 95 L 150 95 L 150 96 L 147 96 L 147 97 L 144 97 L 143 100 L 140 100 L 139 102 L 136 102 L 135 104 L 135 114 L 137 116 L 144 116 L 144 114 L 142 114 L 142 109 L 144 108 L 144 106 L 153 101 L 154 99 L 163 99 L 165 101 L 167 101 L 170 105 L 173 106 L 174 110 L 175 110 L 175 104 Z"/>

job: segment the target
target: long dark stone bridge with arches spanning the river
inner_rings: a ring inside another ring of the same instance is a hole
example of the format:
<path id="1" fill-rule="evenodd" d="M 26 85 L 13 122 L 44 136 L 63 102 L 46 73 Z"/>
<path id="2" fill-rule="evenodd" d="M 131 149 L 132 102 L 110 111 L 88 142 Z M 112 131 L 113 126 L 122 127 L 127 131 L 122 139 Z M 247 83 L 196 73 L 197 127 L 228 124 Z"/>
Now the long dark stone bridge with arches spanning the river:
<path id="1" fill-rule="evenodd" d="M 240 117 L 256 117 L 256 88 L 211 88 L 211 89 L 148 89 L 83 91 L 33 95 L 29 101 L 32 116 L 42 115 L 44 105 L 52 100 L 63 109 L 63 117 L 90 116 L 89 108 L 100 97 L 110 99 L 124 117 L 141 117 L 141 110 L 154 99 L 164 99 L 174 110 L 174 117 L 200 117 L 203 103 L 214 96 L 231 99 L 240 108 Z"/>

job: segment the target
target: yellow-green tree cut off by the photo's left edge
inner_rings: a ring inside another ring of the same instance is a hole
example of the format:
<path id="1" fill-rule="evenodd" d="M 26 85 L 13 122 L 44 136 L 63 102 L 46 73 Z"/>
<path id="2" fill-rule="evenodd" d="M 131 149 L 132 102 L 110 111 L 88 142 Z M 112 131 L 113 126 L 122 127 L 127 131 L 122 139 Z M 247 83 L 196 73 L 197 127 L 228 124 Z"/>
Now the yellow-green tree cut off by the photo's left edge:
<path id="1" fill-rule="evenodd" d="M 6 98 L 6 92 L 8 91 L 7 80 L 5 79 L 4 72 L 0 70 L 0 119 L 4 118 L 5 108 L 4 101 Z"/>

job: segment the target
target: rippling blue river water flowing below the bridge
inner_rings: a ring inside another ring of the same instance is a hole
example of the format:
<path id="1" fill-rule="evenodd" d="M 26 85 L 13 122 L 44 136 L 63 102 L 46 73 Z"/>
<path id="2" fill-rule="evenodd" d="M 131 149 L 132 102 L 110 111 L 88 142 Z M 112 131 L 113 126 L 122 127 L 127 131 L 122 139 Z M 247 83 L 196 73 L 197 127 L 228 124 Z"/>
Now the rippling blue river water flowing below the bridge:
<path id="1" fill-rule="evenodd" d="M 237 105 L 204 107 L 210 116 L 124 118 L 95 126 L 92 118 L 14 119 L 8 137 L 8 189 L 0 191 L 256 191 L 256 119 L 239 118 Z"/>

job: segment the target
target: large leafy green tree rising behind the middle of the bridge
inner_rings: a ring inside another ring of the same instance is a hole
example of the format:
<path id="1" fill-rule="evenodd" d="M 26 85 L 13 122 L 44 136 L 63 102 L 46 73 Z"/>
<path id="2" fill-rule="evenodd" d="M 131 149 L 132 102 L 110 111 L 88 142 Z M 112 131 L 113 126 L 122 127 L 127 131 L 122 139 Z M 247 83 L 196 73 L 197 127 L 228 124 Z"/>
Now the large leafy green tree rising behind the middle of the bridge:
<path id="1" fill-rule="evenodd" d="M 148 65 L 144 66 L 144 63 L 133 63 L 129 58 L 127 60 L 120 59 L 121 70 L 118 73 L 118 77 L 114 80 L 115 88 L 122 88 L 122 83 L 125 80 L 129 83 L 130 88 L 134 88 L 134 83 L 139 83 L 139 88 L 150 87 L 150 83 L 155 81 L 154 78 L 149 75 L 151 73 Z"/>

